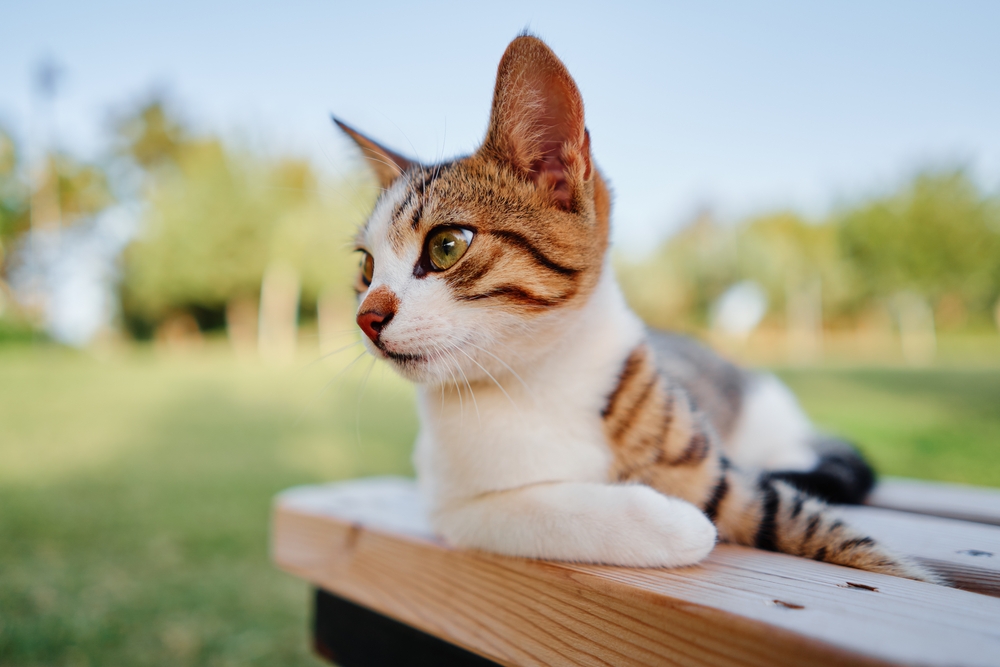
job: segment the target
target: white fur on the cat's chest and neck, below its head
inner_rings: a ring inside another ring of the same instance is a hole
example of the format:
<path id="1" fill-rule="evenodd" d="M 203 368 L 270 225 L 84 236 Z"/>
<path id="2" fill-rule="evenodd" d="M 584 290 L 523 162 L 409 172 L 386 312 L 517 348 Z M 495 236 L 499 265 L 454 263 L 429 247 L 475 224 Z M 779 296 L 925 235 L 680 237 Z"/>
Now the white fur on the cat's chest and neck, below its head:
<path id="1" fill-rule="evenodd" d="M 519 377 L 474 383 L 472 393 L 421 388 L 414 459 L 429 506 L 544 482 L 607 481 L 601 409 L 642 324 L 606 269 L 588 303 L 551 326 L 561 333 L 523 355 L 530 362 L 507 359 Z"/>

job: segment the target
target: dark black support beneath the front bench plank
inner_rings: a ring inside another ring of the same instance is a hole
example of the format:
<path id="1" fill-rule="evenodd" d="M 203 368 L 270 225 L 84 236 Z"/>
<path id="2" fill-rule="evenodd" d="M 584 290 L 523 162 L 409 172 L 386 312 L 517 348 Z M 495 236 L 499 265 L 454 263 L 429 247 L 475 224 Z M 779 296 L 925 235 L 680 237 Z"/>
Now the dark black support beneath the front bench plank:
<path id="1" fill-rule="evenodd" d="M 497 663 L 316 589 L 313 647 L 341 667 L 496 667 Z"/>

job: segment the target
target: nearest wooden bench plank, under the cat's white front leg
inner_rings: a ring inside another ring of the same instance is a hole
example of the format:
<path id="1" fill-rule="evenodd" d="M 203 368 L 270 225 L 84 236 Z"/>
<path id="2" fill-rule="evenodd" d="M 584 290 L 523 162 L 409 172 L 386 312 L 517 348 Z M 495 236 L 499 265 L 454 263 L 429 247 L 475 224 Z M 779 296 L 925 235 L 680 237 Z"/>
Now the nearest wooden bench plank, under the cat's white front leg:
<path id="1" fill-rule="evenodd" d="M 283 494 L 272 554 L 504 665 L 1000 664 L 997 598 L 725 545 L 675 570 L 453 550 L 408 480 Z"/>

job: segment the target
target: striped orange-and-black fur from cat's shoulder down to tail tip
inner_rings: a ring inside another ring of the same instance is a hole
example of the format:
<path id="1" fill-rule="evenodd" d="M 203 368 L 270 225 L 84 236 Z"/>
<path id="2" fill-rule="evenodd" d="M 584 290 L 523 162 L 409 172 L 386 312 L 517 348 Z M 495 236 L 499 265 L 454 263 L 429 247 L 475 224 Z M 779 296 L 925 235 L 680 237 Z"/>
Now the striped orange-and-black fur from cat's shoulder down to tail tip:
<path id="1" fill-rule="evenodd" d="M 734 467 L 708 419 L 657 368 L 648 343 L 623 364 L 603 412 L 619 483 L 694 504 L 725 541 L 914 579 L 919 567 L 851 529 L 815 497 L 771 473 Z"/>

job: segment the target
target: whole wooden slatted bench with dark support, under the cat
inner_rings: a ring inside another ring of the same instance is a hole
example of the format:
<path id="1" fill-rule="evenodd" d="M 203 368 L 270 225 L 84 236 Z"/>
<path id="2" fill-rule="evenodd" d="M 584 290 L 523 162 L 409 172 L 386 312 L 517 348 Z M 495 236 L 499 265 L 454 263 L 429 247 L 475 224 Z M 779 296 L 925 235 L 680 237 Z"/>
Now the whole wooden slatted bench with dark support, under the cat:
<path id="1" fill-rule="evenodd" d="M 674 570 L 456 550 L 401 478 L 286 491 L 271 549 L 344 667 L 1000 665 L 1000 491 L 889 480 L 871 503 L 838 511 L 958 588 L 732 545 Z"/>

